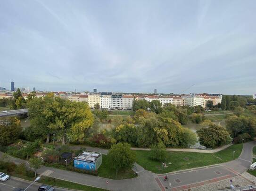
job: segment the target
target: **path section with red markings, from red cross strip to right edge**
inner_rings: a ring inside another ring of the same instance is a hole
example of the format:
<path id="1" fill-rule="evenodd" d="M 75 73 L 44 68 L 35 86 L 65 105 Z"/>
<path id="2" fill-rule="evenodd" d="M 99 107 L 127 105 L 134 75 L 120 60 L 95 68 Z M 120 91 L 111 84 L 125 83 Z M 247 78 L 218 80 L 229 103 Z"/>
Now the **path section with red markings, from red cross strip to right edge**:
<path id="1" fill-rule="evenodd" d="M 179 171 L 178 173 L 169 173 L 168 181 L 164 181 L 165 175 L 158 175 L 158 183 L 161 187 L 168 187 L 169 182 L 172 184 L 173 191 L 187 189 L 188 187 L 197 187 L 207 183 L 213 183 L 222 179 L 238 176 L 245 172 L 252 161 L 252 147 L 255 142 L 248 142 L 243 145 L 242 153 L 239 158 L 230 162 L 210 167 L 201 167 Z M 169 187 L 170 188 L 170 187 Z M 162 189 L 163 190 L 163 189 Z M 164 190 L 163 190 L 164 191 Z"/>

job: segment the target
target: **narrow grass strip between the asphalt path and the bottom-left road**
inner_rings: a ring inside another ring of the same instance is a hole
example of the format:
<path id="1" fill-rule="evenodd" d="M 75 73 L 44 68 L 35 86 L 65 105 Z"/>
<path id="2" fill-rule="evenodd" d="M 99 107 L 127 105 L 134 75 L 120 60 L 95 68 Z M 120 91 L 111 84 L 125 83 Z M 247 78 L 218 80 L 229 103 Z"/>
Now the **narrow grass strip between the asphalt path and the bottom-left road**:
<path id="1" fill-rule="evenodd" d="M 35 178 L 30 178 L 30 177 L 27 177 L 24 175 L 19 175 L 19 174 L 12 174 L 12 176 L 22 178 L 25 180 L 30 180 L 30 181 L 34 181 L 34 179 L 35 179 Z M 107 191 L 105 189 L 96 188 L 96 187 L 92 187 L 92 186 L 86 186 L 86 185 L 79 184 L 79 183 L 72 183 L 69 181 L 51 178 L 51 177 L 47 177 L 47 176 L 41 176 L 41 179 L 37 182 L 42 183 L 42 184 L 48 184 L 51 186 L 58 186 L 58 187 L 62 187 L 62 188 L 69 188 L 69 189 L 81 190 L 81 191 Z"/>

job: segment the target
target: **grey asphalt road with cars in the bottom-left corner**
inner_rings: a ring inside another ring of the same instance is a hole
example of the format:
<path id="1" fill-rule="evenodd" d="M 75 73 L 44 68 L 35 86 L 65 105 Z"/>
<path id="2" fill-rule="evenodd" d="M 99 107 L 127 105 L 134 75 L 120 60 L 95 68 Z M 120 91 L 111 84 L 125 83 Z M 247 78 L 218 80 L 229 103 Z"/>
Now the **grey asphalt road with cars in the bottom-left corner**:
<path id="1" fill-rule="evenodd" d="M 25 181 L 16 177 L 11 177 L 6 182 L 0 182 L 0 191 L 13 191 L 15 188 L 25 189 L 31 182 Z M 33 183 L 27 191 L 38 191 L 38 187 L 41 183 Z M 55 188 L 55 191 L 72 191 L 69 189 Z"/>

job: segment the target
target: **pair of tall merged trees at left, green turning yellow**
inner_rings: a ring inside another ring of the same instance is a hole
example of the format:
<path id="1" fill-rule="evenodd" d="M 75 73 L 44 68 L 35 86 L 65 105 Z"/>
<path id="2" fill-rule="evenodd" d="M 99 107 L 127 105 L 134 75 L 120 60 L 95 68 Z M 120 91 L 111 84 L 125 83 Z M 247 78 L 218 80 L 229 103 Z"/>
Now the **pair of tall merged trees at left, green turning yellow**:
<path id="1" fill-rule="evenodd" d="M 66 139 L 82 141 L 93 124 L 93 115 L 87 103 L 54 98 L 53 94 L 30 101 L 29 116 L 35 132 L 47 135 L 47 142 L 50 134 L 55 133 L 62 144 Z"/>

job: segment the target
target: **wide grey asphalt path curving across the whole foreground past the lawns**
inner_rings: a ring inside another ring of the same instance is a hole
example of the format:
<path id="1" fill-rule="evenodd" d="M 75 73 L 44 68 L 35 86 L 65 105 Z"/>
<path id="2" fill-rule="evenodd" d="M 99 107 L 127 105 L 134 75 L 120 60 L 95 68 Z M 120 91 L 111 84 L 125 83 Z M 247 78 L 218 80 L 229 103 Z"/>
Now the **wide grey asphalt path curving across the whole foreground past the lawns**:
<path id="1" fill-rule="evenodd" d="M 180 191 L 188 189 L 189 187 L 198 187 L 200 185 L 217 182 L 234 176 L 240 176 L 240 174 L 246 171 L 251 164 L 252 147 L 254 145 L 256 145 L 256 142 L 245 143 L 239 158 L 227 163 L 167 173 L 168 181 L 163 180 L 165 176 L 164 174 L 157 175 L 145 170 L 136 163 L 135 166 L 139 177 L 126 180 L 111 180 L 45 166 L 41 167 L 38 170 L 38 173 L 44 176 L 50 176 L 112 191 L 165 191 L 166 188 L 172 191 Z M 107 150 L 105 149 L 93 147 L 87 147 L 87 149 L 107 154 Z M 16 162 L 23 161 L 20 159 L 15 160 Z M 108 181 L 107 184 L 106 181 Z M 172 184 L 172 188 L 170 188 L 169 183 Z"/>

